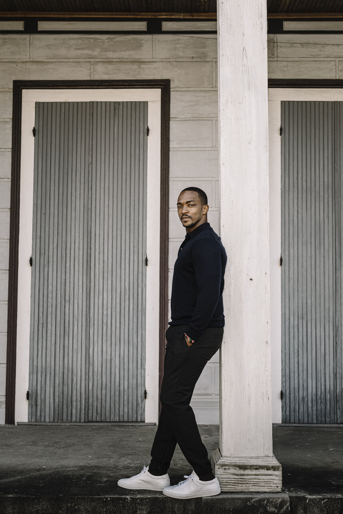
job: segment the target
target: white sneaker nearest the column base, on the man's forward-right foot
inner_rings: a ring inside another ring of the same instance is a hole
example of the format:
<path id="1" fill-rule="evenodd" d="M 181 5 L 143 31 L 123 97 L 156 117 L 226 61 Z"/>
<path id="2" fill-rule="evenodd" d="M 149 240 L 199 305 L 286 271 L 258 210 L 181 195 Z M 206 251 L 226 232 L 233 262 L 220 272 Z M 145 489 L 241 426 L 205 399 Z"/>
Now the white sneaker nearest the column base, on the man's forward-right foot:
<path id="1" fill-rule="evenodd" d="M 187 480 L 179 482 L 178 485 L 165 487 L 163 494 L 172 498 L 187 500 L 188 498 L 215 496 L 215 494 L 220 493 L 220 485 L 216 477 L 208 482 L 202 482 L 195 471 L 193 471 L 191 475 L 185 475 L 185 479 Z"/>

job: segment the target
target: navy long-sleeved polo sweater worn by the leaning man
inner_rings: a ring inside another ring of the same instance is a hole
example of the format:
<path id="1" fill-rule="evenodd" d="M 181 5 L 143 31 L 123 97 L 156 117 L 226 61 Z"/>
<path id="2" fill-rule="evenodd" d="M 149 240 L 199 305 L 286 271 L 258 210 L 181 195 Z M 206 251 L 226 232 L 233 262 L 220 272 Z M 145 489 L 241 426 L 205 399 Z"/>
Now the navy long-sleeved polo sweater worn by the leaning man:
<path id="1" fill-rule="evenodd" d="M 186 234 L 174 265 L 170 325 L 188 325 L 196 341 L 207 326 L 224 326 L 226 252 L 209 223 Z"/>

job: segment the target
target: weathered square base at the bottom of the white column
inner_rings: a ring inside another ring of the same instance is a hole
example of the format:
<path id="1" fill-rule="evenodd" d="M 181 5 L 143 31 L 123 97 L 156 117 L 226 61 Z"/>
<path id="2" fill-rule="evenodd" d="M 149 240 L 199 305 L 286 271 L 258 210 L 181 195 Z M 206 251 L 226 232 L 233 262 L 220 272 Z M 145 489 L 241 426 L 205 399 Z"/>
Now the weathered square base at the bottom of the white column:
<path id="1" fill-rule="evenodd" d="M 222 457 L 210 455 L 222 491 L 281 492 L 282 468 L 276 457 Z"/>

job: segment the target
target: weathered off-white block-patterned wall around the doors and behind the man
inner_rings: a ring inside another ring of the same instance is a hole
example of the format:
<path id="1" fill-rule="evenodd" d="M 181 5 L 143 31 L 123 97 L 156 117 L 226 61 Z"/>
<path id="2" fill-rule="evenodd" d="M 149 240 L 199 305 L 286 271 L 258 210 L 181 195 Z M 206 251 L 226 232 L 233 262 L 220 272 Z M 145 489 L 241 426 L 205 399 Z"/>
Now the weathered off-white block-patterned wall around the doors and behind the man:
<path id="1" fill-rule="evenodd" d="M 0 424 L 5 419 L 12 81 L 171 80 L 171 277 L 184 236 L 175 208 L 180 190 L 195 185 L 207 192 L 209 221 L 218 230 L 216 44 L 213 34 L 0 35 Z M 343 78 L 343 35 L 268 35 L 268 59 L 270 78 Z M 218 423 L 218 355 L 204 370 L 192 405 L 199 423 Z"/>

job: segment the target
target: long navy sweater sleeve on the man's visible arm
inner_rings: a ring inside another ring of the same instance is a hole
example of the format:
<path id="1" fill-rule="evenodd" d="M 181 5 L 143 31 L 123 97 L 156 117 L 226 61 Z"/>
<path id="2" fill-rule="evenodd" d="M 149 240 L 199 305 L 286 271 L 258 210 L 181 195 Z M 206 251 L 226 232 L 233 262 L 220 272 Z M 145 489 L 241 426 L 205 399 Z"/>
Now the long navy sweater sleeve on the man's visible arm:
<path id="1" fill-rule="evenodd" d="M 220 298 L 222 254 L 219 244 L 210 238 L 196 241 L 191 248 L 197 299 L 186 334 L 196 341 L 209 325 Z"/>

